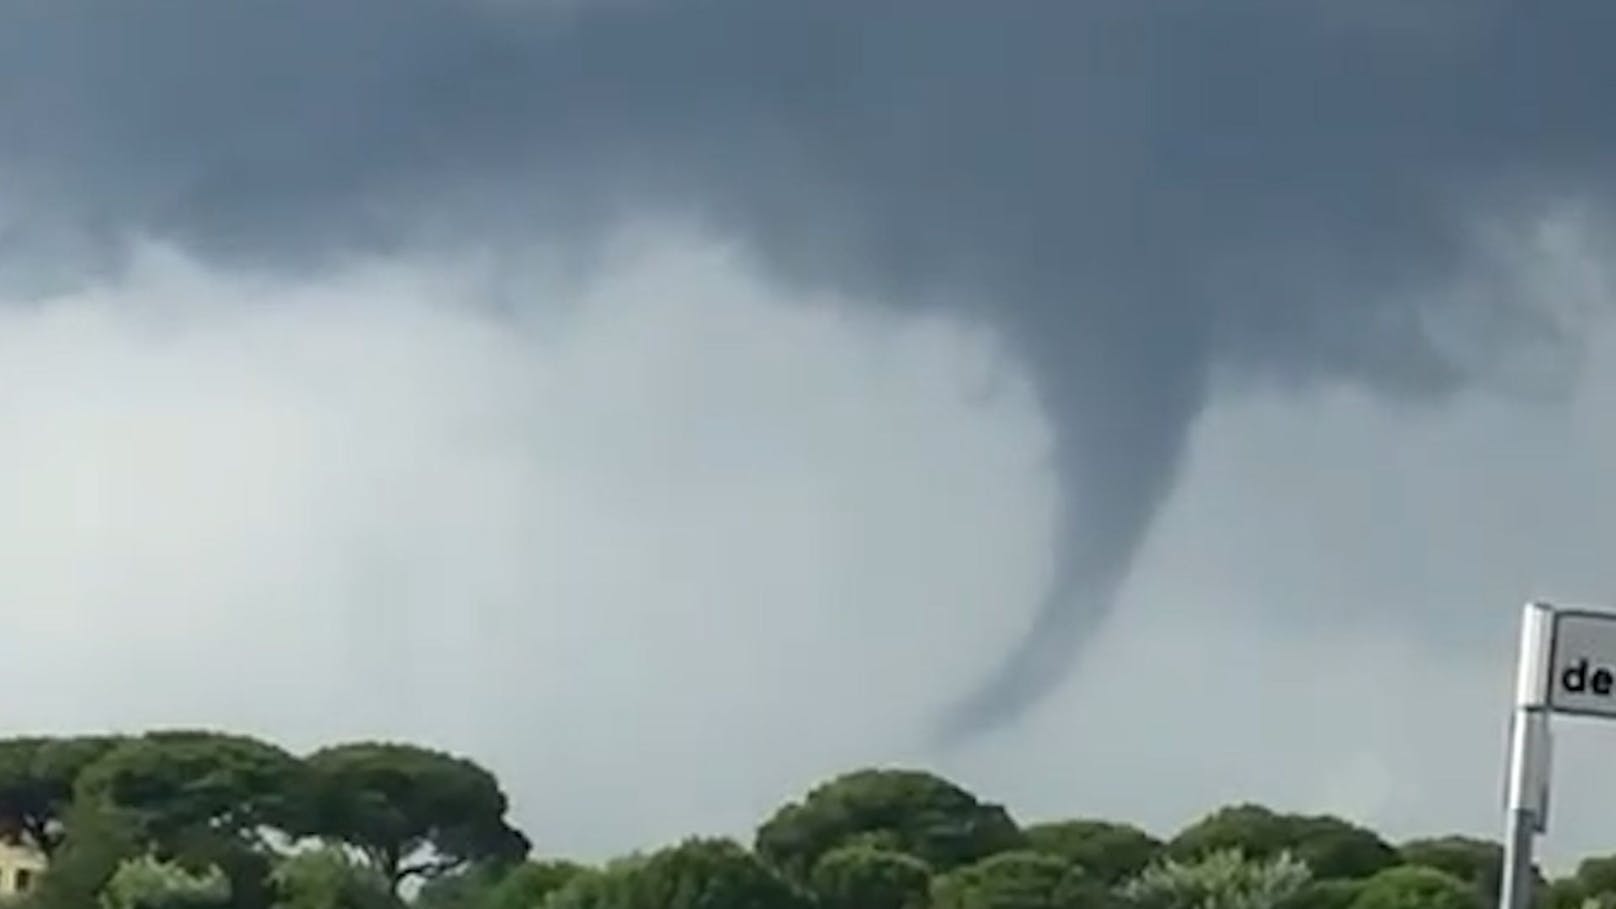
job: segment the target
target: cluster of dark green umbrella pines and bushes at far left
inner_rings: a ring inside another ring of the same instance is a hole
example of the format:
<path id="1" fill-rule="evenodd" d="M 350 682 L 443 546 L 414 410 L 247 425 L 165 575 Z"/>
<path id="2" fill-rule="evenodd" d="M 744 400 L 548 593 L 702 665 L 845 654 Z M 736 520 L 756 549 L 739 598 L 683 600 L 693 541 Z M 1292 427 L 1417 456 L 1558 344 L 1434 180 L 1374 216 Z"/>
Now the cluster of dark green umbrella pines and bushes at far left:
<path id="1" fill-rule="evenodd" d="M 389 906 L 420 882 L 524 860 L 507 807 L 483 767 L 409 744 L 0 741 L 0 833 L 47 859 L 19 899 L 31 909 Z"/>

